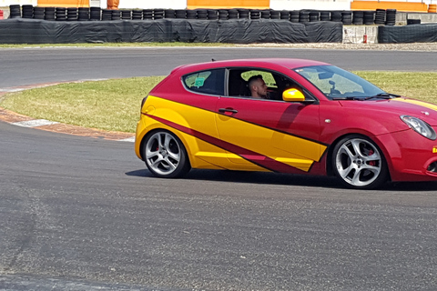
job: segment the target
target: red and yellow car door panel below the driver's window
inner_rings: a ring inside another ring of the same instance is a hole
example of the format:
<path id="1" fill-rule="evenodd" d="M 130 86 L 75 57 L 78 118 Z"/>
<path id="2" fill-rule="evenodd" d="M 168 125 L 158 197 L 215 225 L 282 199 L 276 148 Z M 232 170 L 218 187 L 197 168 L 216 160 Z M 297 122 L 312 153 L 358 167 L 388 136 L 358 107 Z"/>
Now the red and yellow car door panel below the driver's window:
<path id="1" fill-rule="evenodd" d="M 276 73 L 266 73 L 278 79 Z M 314 97 L 309 95 L 309 98 Z M 248 96 L 220 97 L 216 125 L 219 138 L 227 146 L 229 161 L 245 170 L 309 172 L 326 149 L 317 142 L 319 104 L 315 98 L 313 101 L 294 103 Z"/>

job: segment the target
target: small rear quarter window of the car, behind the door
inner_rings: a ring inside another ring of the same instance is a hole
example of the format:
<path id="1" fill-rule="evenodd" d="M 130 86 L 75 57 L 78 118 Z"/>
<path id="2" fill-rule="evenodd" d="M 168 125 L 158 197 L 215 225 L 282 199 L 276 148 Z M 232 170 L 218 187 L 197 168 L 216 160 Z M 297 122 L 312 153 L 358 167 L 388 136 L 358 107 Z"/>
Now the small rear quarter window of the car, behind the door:
<path id="1" fill-rule="evenodd" d="M 189 91 L 208 95 L 224 95 L 225 69 L 200 71 L 184 75 L 182 82 Z"/>

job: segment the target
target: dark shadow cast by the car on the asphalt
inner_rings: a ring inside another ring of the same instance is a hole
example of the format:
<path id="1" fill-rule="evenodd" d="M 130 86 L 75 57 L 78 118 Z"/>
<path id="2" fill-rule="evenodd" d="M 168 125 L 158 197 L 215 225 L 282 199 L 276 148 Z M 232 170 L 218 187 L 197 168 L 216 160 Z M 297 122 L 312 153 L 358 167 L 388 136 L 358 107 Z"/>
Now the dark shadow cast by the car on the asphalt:
<path id="1" fill-rule="evenodd" d="M 126 175 L 155 178 L 147 169 L 127 172 Z M 340 181 L 336 177 L 332 176 L 305 176 L 266 172 L 193 169 L 184 178 L 198 181 L 204 180 L 265 185 L 345 188 L 340 184 Z M 380 189 L 377 189 L 376 191 L 378 190 L 393 192 L 437 191 L 437 182 L 386 183 L 384 186 L 382 186 Z"/>

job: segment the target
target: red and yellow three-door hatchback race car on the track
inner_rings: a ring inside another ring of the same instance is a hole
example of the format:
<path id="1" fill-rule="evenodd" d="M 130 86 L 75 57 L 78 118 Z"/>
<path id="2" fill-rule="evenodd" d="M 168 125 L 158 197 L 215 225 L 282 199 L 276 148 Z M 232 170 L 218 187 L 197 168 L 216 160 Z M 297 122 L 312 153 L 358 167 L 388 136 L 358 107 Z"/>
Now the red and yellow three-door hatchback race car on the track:
<path id="1" fill-rule="evenodd" d="M 141 105 L 135 151 L 149 171 L 190 168 L 338 176 L 368 189 L 437 180 L 437 105 L 301 59 L 175 68 Z"/>

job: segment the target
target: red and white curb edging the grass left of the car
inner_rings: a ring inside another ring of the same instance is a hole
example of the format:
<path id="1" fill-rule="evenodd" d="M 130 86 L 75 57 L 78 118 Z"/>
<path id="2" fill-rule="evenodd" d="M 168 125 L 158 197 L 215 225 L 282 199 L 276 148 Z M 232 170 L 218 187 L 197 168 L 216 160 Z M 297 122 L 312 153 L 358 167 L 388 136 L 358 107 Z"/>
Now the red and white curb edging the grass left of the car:
<path id="1" fill-rule="evenodd" d="M 85 81 L 92 80 L 84 80 L 84 81 L 75 81 L 75 82 L 62 82 L 62 83 L 82 83 Z M 37 84 L 37 85 L 25 85 L 25 86 L 17 86 L 17 87 L 9 87 L 9 88 L 0 88 L 0 97 L 7 93 L 18 92 L 27 89 L 33 89 L 38 87 L 45 87 L 50 85 L 58 85 L 62 83 L 46 83 L 46 84 Z M 86 128 L 78 125 L 66 125 L 61 124 L 54 121 L 49 121 L 46 119 L 36 119 L 33 117 L 29 117 L 26 115 L 20 115 L 13 111 L 7 110 L 5 108 L 0 107 L 0 121 L 8 123 L 10 125 L 23 126 L 23 127 L 31 127 L 40 130 L 45 130 L 49 132 L 55 132 L 66 135 L 79 135 L 79 136 L 87 136 L 94 137 L 100 139 L 107 140 L 115 140 L 122 142 L 134 142 L 135 135 L 130 133 L 116 132 L 116 131 L 105 131 L 97 128 Z"/>

